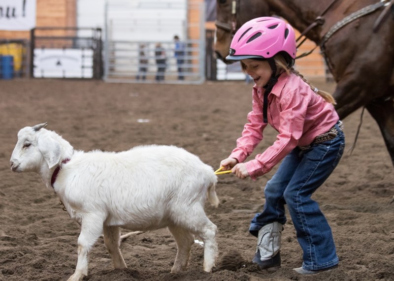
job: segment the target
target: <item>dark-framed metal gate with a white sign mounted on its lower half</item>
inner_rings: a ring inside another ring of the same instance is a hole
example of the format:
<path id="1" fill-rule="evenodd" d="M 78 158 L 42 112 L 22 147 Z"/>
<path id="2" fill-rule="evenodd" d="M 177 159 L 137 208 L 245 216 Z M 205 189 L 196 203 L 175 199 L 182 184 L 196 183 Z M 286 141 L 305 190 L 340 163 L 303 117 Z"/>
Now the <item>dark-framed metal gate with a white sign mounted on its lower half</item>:
<path id="1" fill-rule="evenodd" d="M 84 36 L 80 35 L 85 34 Z M 101 79 L 101 29 L 41 27 L 31 31 L 31 77 Z"/>

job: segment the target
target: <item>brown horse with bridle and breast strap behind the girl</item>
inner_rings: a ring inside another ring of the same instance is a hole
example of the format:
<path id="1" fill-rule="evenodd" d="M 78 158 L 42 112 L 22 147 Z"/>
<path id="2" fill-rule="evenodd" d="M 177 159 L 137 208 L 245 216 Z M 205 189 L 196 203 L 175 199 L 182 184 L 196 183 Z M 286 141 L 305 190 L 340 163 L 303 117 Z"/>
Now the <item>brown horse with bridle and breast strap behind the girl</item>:
<path id="1" fill-rule="evenodd" d="M 226 62 L 233 34 L 256 17 L 281 16 L 297 30 L 307 31 L 305 36 L 320 45 L 337 82 L 333 95 L 340 118 L 365 106 L 394 164 L 393 2 L 385 1 L 384 6 L 380 0 L 217 0 L 215 53 Z"/>

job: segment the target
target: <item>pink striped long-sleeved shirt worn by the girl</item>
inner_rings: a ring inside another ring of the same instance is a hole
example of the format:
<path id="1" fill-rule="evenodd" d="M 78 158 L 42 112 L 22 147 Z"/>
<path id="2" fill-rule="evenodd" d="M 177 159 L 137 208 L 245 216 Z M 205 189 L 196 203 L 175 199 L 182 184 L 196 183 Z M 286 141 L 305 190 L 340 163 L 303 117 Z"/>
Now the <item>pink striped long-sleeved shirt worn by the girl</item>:
<path id="1" fill-rule="evenodd" d="M 253 87 L 252 111 L 248 114 L 242 136 L 231 158 L 243 162 L 263 139 L 264 89 Z M 316 136 L 326 133 L 339 120 L 334 106 L 315 94 L 296 74 L 283 73 L 268 95 L 268 123 L 279 134 L 272 146 L 255 159 L 245 162 L 249 176 L 256 177 L 269 172 L 296 146 L 310 144 Z"/>

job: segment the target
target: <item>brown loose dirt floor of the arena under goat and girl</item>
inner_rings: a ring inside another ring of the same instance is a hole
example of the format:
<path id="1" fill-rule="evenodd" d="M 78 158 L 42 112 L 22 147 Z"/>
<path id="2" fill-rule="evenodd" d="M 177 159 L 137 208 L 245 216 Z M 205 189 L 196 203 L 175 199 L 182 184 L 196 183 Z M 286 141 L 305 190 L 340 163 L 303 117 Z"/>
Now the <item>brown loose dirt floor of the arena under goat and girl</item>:
<path id="1" fill-rule="evenodd" d="M 330 92 L 334 84 L 312 81 Z M 0 281 L 67 280 L 77 261 L 79 225 L 69 219 L 38 175 L 11 172 L 9 159 L 18 130 L 48 122 L 75 149 L 127 150 L 142 144 L 185 148 L 214 168 L 234 148 L 251 109 L 251 85 L 243 82 L 198 86 L 109 84 L 102 81 L 0 81 Z M 302 252 L 292 221 L 282 234 L 282 268 L 269 274 L 251 263 L 256 239 L 250 219 L 262 210 L 263 187 L 273 175 L 253 182 L 219 176 L 217 209 L 206 204 L 218 226 L 220 257 L 237 250 L 237 271 L 202 271 L 203 248 L 195 244 L 187 271 L 171 275 L 176 245 L 167 229 L 133 235 L 122 242 L 126 270 L 113 270 L 102 239 L 90 254 L 89 281 L 373 281 L 394 279 L 394 169 L 380 131 L 365 113 L 350 156 L 360 111 L 344 120 L 345 156 L 313 195 L 325 213 L 340 258 L 339 268 L 304 277 Z M 267 129 L 257 151 L 275 140 Z M 154 173 L 152 167 L 152 173 Z M 191 167 L 190 172 L 193 172 Z M 126 233 L 122 230 L 122 233 Z M 198 239 L 198 238 L 197 238 Z"/>

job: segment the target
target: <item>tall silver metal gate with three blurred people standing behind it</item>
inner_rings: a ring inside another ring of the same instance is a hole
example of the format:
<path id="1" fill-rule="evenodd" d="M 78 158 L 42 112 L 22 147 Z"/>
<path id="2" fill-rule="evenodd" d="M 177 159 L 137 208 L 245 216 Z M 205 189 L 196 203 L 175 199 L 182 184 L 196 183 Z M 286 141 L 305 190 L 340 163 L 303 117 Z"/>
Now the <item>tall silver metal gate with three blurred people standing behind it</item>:
<path id="1" fill-rule="evenodd" d="M 204 3 L 108 1 L 104 80 L 201 84 L 205 80 Z M 173 40 L 177 35 L 180 42 Z M 180 48 L 177 48 L 180 47 Z"/>

